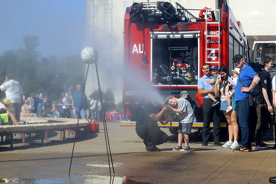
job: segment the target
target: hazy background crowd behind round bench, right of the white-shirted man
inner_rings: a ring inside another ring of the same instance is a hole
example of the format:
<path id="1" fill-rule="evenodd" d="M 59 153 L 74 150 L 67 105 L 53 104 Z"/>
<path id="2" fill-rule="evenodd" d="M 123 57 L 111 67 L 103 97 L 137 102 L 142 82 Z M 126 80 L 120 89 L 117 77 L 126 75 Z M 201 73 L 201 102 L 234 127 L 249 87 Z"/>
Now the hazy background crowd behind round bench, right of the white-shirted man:
<path id="1" fill-rule="evenodd" d="M 35 101 L 35 97 L 31 97 L 27 100 Z M 42 95 L 42 101 L 39 105 L 34 105 L 34 112 L 39 117 L 61 117 L 61 118 L 75 118 L 84 119 L 87 121 L 102 121 L 101 102 L 93 99 L 90 95 L 87 98 L 83 92 L 82 86 L 77 85 L 75 92 L 72 97 L 68 93 L 61 93 L 61 99 L 55 103 L 49 103 L 48 97 Z M 24 104 L 26 105 L 26 104 Z M 23 105 L 23 106 L 24 106 Z M 21 113 L 23 112 L 23 106 Z M 32 103 L 29 105 L 32 107 Z M 32 112 L 29 111 L 28 116 L 32 116 Z M 23 114 L 22 114 L 23 115 Z"/>

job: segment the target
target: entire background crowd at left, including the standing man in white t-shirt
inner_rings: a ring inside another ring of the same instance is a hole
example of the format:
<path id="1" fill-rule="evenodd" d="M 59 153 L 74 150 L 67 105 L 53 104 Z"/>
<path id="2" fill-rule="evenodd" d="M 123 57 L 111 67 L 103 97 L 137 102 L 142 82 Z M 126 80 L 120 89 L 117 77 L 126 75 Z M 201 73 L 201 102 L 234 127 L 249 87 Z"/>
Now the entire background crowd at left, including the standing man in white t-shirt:
<path id="1" fill-rule="evenodd" d="M 0 102 L 0 125 L 18 125 L 20 117 L 34 116 L 80 118 L 87 121 L 103 119 L 101 102 L 93 99 L 92 95 L 87 98 L 80 84 L 77 85 L 72 98 L 64 92 L 61 93 L 61 99 L 55 102 L 51 102 L 40 90 L 25 98 L 20 83 L 12 79 L 12 74 L 6 76 L 0 90 L 6 92 L 6 98 Z"/>

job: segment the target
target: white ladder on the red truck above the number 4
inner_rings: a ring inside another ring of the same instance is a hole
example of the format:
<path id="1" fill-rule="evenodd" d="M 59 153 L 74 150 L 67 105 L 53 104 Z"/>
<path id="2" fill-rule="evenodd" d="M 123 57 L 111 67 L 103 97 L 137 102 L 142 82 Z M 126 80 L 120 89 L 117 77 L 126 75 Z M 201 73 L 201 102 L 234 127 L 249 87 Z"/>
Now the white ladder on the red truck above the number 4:
<path id="1" fill-rule="evenodd" d="M 206 14 L 208 12 L 217 12 L 217 19 L 214 21 L 208 21 L 208 19 L 205 19 L 205 63 L 210 64 L 217 64 L 217 67 L 219 68 L 220 63 L 220 55 L 221 55 L 221 35 L 220 35 L 220 11 L 219 10 L 206 10 Z M 211 28 L 214 30 L 217 30 L 217 34 L 214 34 L 212 32 Z M 217 38 L 217 44 L 211 43 L 211 41 L 214 41 L 214 38 Z M 208 41 L 210 42 L 208 44 Z M 217 47 L 213 48 L 212 45 L 217 45 Z"/>

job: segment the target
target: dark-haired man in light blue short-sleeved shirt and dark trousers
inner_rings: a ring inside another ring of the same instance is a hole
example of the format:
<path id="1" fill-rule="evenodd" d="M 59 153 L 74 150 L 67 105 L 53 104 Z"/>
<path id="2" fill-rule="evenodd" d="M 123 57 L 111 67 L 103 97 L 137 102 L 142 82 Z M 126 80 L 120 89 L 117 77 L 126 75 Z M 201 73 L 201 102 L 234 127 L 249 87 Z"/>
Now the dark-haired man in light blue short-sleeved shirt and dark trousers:
<path id="1" fill-rule="evenodd" d="M 202 140 L 203 146 L 208 145 L 209 136 L 210 136 L 210 122 L 213 121 L 213 137 L 214 145 L 221 146 L 219 142 L 220 127 L 219 121 L 221 116 L 221 111 L 219 110 L 219 105 L 212 107 L 213 101 L 208 96 L 209 93 L 214 93 L 215 89 L 207 81 L 213 81 L 213 75 L 210 74 L 210 64 L 204 63 L 201 70 L 204 72 L 204 76 L 201 76 L 197 83 L 197 90 L 200 95 L 204 96 L 204 101 L 202 105 L 203 109 L 203 119 L 204 125 L 202 128 Z"/>

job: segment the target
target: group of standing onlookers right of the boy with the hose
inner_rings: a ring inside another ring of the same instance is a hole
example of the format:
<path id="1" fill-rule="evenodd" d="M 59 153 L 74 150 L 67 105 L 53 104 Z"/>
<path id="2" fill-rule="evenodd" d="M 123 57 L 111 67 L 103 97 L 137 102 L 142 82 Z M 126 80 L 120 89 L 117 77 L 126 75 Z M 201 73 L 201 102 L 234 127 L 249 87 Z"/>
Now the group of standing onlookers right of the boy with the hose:
<path id="1" fill-rule="evenodd" d="M 233 77 L 226 66 L 221 65 L 215 81 L 215 86 L 210 85 L 209 81 L 214 81 L 214 75 L 210 73 L 210 64 L 206 63 L 202 67 L 204 76 L 199 79 L 198 91 L 204 96 L 204 128 L 202 130 L 202 145 L 208 145 L 208 132 L 210 130 L 210 121 L 214 123 L 214 144 L 219 143 L 219 114 L 222 112 L 228 123 L 228 141 L 221 145 L 222 147 L 230 147 L 233 152 L 251 152 L 251 141 L 255 138 L 256 149 L 266 149 L 268 145 L 264 143 L 264 134 L 268 130 L 268 126 L 273 122 L 270 119 L 270 113 L 273 112 L 273 105 L 276 105 L 275 89 L 273 90 L 273 82 L 270 79 L 270 70 L 273 69 L 273 59 L 265 57 L 262 61 L 264 69 L 261 72 L 255 72 L 250 65 L 244 60 L 241 54 L 233 57 L 235 70 L 232 70 Z M 275 76 L 274 78 L 275 79 Z M 275 83 L 275 81 L 274 81 Z M 250 107 L 250 96 L 256 86 L 261 89 L 257 94 L 257 103 Z M 210 99 L 210 94 L 215 96 L 220 103 L 214 104 Z M 276 107 L 276 106 L 275 106 Z M 257 114 L 257 123 L 255 129 L 253 122 L 250 121 L 249 113 L 255 110 Z M 271 128 L 271 127 L 270 127 Z M 239 138 L 240 130 L 240 138 Z M 252 134 L 253 131 L 254 134 Z M 240 139 L 240 141 L 239 141 Z M 238 143 L 239 141 L 239 143 Z M 276 148 L 276 145 L 274 146 Z"/>

